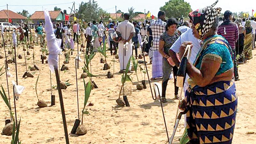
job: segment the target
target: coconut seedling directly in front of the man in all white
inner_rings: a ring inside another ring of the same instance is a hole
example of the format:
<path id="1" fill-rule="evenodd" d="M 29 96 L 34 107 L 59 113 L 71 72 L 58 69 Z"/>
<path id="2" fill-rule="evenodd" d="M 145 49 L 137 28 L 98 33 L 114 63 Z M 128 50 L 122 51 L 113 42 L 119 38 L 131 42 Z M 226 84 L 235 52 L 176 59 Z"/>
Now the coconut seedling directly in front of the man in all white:
<path id="1" fill-rule="evenodd" d="M 130 57 L 130 59 L 128 60 L 128 63 L 127 63 L 127 65 L 126 65 L 126 69 L 125 69 L 125 73 L 122 75 L 122 79 L 121 79 L 122 85 L 121 85 L 121 89 L 120 89 L 120 92 L 119 92 L 119 97 L 118 97 L 118 99 L 116 100 L 116 103 L 117 103 L 119 106 L 122 106 L 122 107 L 123 107 L 124 105 L 126 105 L 127 107 L 130 106 L 130 105 L 129 105 L 129 102 L 128 102 L 128 99 L 127 99 L 127 96 L 124 95 L 124 84 L 125 84 L 126 81 L 131 81 L 131 82 L 132 82 L 132 77 L 131 77 L 132 74 L 128 75 L 128 71 L 129 71 L 129 67 L 130 67 L 130 63 L 131 63 L 131 58 L 132 58 L 132 57 Z M 122 89 L 123 89 L 123 99 L 120 98 Z"/>

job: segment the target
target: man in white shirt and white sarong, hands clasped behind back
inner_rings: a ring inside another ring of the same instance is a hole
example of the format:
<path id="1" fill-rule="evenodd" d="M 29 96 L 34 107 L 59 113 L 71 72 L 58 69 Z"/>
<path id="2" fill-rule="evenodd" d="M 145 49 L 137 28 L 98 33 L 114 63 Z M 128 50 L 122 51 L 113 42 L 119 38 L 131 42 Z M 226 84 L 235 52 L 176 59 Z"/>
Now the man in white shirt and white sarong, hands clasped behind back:
<path id="1" fill-rule="evenodd" d="M 125 71 L 126 66 L 130 57 L 132 56 L 132 37 L 135 33 L 135 28 L 131 22 L 129 22 L 130 15 L 129 13 L 124 14 L 124 21 L 119 23 L 116 32 L 120 33 L 122 36 L 122 40 L 118 43 L 118 56 L 120 62 L 120 71 L 119 73 L 123 73 Z M 128 44 L 126 44 L 128 42 Z M 129 71 L 131 71 L 131 65 L 129 67 Z"/>

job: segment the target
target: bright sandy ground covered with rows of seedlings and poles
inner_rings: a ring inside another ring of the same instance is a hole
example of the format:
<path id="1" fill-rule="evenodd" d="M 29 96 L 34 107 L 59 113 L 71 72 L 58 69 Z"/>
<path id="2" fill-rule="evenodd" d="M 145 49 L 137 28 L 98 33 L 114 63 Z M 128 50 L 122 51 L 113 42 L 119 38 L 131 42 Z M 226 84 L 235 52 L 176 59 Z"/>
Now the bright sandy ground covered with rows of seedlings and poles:
<path id="1" fill-rule="evenodd" d="M 80 45 L 79 45 L 80 48 Z M 17 59 L 18 67 L 18 82 L 19 85 L 25 86 L 25 90 L 16 101 L 17 116 L 21 117 L 20 125 L 20 141 L 24 144 L 64 144 L 65 135 L 62 124 L 62 117 L 60 111 L 60 103 L 58 91 L 54 91 L 56 95 L 56 105 L 46 108 L 38 108 L 36 105 L 36 91 L 35 84 L 36 78 L 40 73 L 38 81 L 38 96 L 40 100 L 45 100 L 51 105 L 51 92 L 49 91 L 50 85 L 50 71 L 47 64 L 42 64 L 40 60 L 41 52 L 39 46 L 35 46 L 35 62 L 40 71 L 34 71 L 34 78 L 22 78 L 26 71 L 24 54 L 22 46 L 19 46 L 19 53 L 22 54 L 23 59 Z M 4 48 L 0 48 L 1 55 L 4 55 Z M 32 53 L 26 58 L 27 66 L 33 66 Z M 71 60 L 67 66 L 69 70 L 64 73 L 60 72 L 61 81 L 67 81 L 72 84 L 68 86 L 67 90 L 62 90 L 64 107 L 66 112 L 66 120 L 68 132 L 71 131 L 77 116 L 77 101 L 76 101 L 76 73 L 75 73 L 75 57 L 77 51 L 73 52 Z M 114 62 L 113 56 L 107 52 L 107 62 L 110 63 L 110 71 L 113 73 Z M 8 55 L 7 59 L 11 59 Z M 146 57 L 148 61 L 148 57 Z M 60 62 L 64 61 L 64 55 L 61 56 Z M 238 112 L 236 117 L 236 128 L 233 138 L 234 144 L 254 144 L 256 135 L 247 135 L 246 132 L 256 132 L 256 107 L 255 104 L 255 85 L 256 85 L 256 51 L 253 51 L 253 59 L 249 60 L 244 65 L 239 65 L 240 81 L 236 82 L 236 90 L 238 95 Z M 0 59 L 0 66 L 4 65 L 4 59 Z M 83 62 L 79 63 L 80 67 L 77 70 L 78 75 L 78 94 L 79 94 L 79 111 L 83 108 L 84 102 L 84 84 L 80 75 L 83 70 Z M 151 77 L 152 65 L 148 66 L 149 76 Z M 11 97 L 11 106 L 14 109 L 13 93 L 11 81 L 15 80 L 15 65 L 9 64 L 10 72 L 13 77 L 8 78 L 9 90 Z M 142 66 L 144 68 L 144 66 Z M 158 101 L 154 101 L 151 97 L 149 84 L 147 89 L 138 91 L 136 90 L 137 78 L 135 73 L 132 74 L 133 83 L 127 82 L 125 90 L 128 96 L 131 107 L 119 107 L 116 104 L 120 86 L 121 74 L 118 74 L 119 62 L 115 59 L 115 77 L 107 79 L 106 76 L 93 77 L 93 81 L 98 85 L 98 89 L 93 89 L 88 103 L 91 102 L 94 106 L 86 106 L 89 115 L 84 116 L 84 123 L 87 127 L 87 134 L 84 136 L 76 136 L 69 134 L 69 141 L 71 144 L 164 144 L 167 143 L 167 136 L 164 127 L 164 120 L 161 110 L 161 105 Z M 108 71 L 103 71 L 103 64 L 100 63 L 100 54 L 97 53 L 92 60 L 92 73 L 93 74 L 107 74 Z M 138 70 L 139 72 L 139 70 Z M 139 80 L 144 79 L 138 73 Z M 147 79 L 147 77 L 146 77 Z M 85 78 L 88 82 L 89 78 Z M 154 81 L 159 82 L 161 81 Z M 6 77 L 1 76 L 0 84 L 4 86 L 7 92 Z M 52 85 L 56 85 L 55 74 L 52 73 Z M 8 96 L 8 95 L 7 95 Z M 173 130 L 173 123 L 176 114 L 178 100 L 174 100 L 174 85 L 173 79 L 169 81 L 167 88 L 167 103 L 163 104 L 165 119 L 168 127 L 168 134 L 171 136 Z M 87 103 L 87 104 L 88 104 Z M 8 108 L 4 101 L 0 100 L 0 129 L 4 127 L 4 121 L 9 119 Z M 178 144 L 178 138 L 184 131 L 184 117 L 180 120 L 177 129 L 174 143 Z M 11 136 L 0 135 L 0 144 L 11 142 Z"/>

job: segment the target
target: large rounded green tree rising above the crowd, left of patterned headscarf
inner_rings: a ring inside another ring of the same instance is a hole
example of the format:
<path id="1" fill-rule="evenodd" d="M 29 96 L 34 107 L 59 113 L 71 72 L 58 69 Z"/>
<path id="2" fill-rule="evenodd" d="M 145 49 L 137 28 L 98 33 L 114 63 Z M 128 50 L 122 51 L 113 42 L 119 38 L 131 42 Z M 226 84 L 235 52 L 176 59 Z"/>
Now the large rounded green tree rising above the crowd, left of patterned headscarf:
<path id="1" fill-rule="evenodd" d="M 169 0 L 160 10 L 166 12 L 168 18 L 188 17 L 188 13 L 192 11 L 189 3 L 184 0 Z"/>

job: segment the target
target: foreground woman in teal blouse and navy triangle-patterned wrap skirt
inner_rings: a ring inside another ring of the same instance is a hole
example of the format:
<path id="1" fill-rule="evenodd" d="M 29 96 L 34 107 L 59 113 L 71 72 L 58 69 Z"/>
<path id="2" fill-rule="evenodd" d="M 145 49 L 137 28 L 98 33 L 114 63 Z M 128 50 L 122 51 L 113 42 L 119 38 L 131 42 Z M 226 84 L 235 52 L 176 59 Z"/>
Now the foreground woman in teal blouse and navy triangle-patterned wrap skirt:
<path id="1" fill-rule="evenodd" d="M 218 1 L 216 1 L 217 3 Z M 216 35 L 221 8 L 212 4 L 189 13 L 193 35 L 203 44 L 194 64 L 187 63 L 186 128 L 189 143 L 231 144 L 237 97 L 233 82 L 234 58 L 228 42 Z M 190 42 L 180 47 L 180 55 Z"/>

